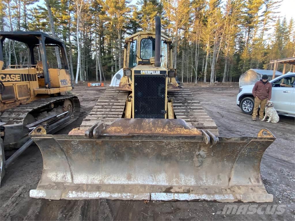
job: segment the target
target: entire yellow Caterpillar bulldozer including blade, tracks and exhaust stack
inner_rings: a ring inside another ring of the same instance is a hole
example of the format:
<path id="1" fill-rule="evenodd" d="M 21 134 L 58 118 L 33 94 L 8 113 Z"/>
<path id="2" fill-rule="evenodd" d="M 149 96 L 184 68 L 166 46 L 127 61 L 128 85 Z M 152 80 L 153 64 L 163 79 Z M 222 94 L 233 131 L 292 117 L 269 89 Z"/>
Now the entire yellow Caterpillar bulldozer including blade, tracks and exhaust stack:
<path id="1" fill-rule="evenodd" d="M 194 95 L 178 87 L 171 43 L 156 17 L 156 32 L 126 38 L 119 87 L 107 87 L 79 128 L 30 133 L 43 157 L 30 197 L 273 201 L 260 161 L 275 137 L 267 129 L 219 136 Z"/>

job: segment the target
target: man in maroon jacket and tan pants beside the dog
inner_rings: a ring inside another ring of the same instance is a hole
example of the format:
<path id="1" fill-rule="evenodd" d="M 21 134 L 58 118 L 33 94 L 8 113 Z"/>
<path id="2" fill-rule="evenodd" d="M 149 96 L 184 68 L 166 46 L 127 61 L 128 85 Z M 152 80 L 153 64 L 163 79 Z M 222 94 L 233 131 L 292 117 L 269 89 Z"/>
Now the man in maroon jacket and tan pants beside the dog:
<path id="1" fill-rule="evenodd" d="M 267 75 L 262 75 L 261 80 L 255 83 L 252 90 L 252 94 L 255 98 L 252 121 L 256 121 L 259 105 L 260 105 L 259 120 L 262 120 L 266 102 L 268 100 L 271 100 L 271 83 L 268 82 Z"/>

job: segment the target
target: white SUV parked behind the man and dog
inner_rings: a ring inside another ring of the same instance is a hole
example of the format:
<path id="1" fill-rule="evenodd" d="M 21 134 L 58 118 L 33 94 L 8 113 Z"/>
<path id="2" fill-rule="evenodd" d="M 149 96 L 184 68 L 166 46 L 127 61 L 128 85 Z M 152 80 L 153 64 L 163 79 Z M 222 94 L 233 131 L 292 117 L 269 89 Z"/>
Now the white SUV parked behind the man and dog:
<path id="1" fill-rule="evenodd" d="M 271 101 L 280 115 L 295 117 L 295 73 L 287 73 L 269 81 L 272 85 Z M 237 105 L 245 114 L 252 114 L 254 85 L 240 87 L 237 95 Z"/>

